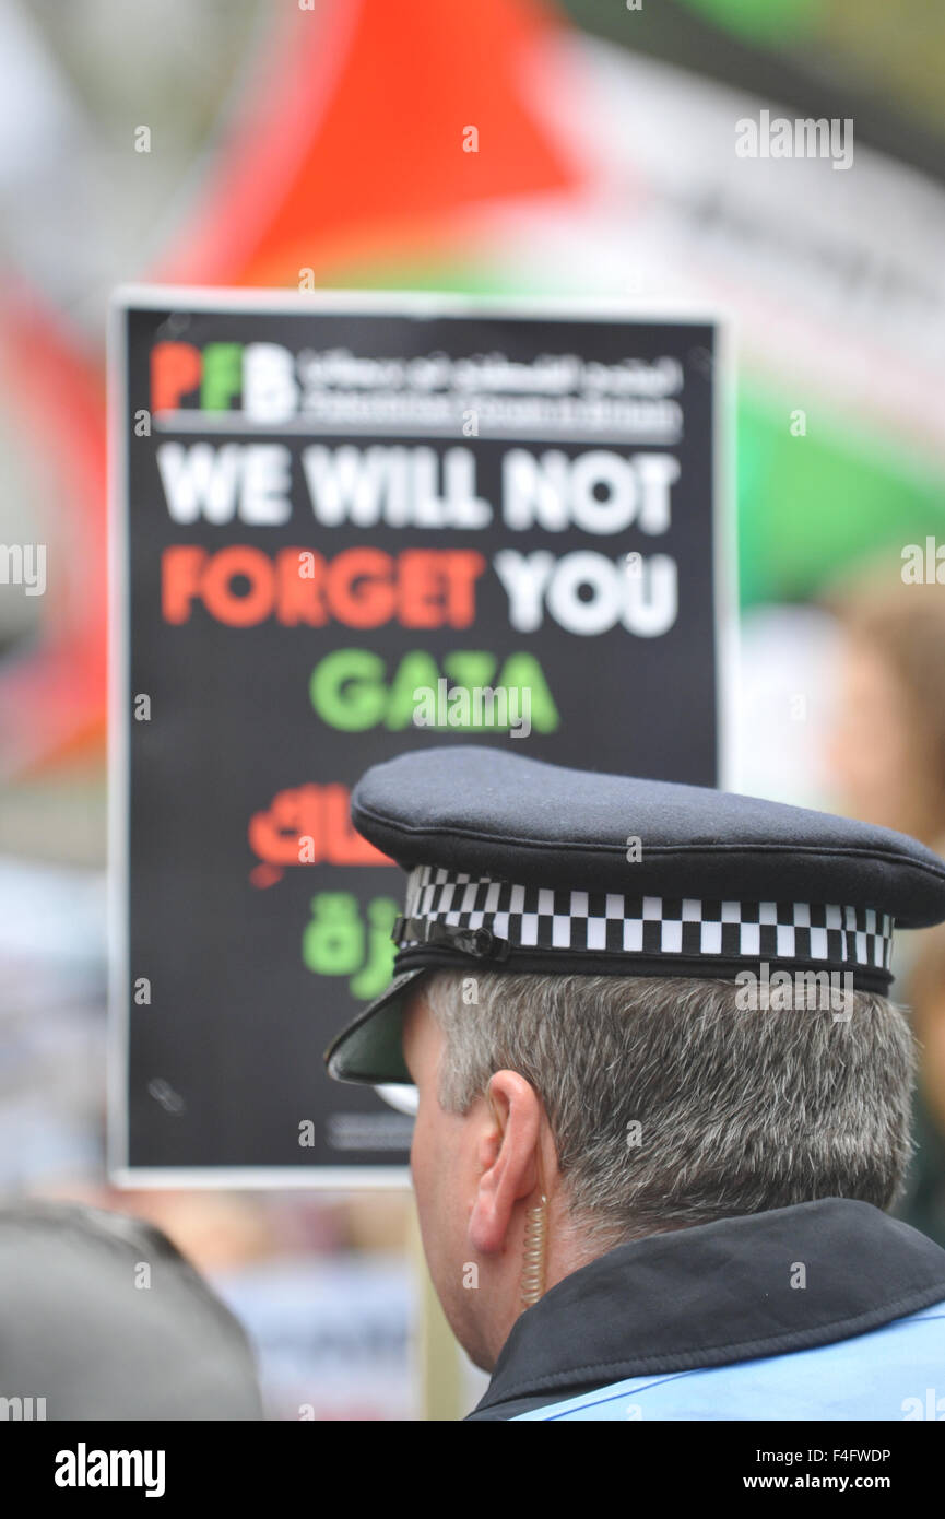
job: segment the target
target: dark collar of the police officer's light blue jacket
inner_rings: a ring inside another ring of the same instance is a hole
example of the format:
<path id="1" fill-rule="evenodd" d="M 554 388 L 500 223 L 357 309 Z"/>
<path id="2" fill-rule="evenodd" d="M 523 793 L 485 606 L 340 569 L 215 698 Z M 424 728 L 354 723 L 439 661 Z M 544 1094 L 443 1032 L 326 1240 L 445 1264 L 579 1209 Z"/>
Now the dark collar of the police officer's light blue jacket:
<path id="1" fill-rule="evenodd" d="M 469 1419 L 830 1344 L 942 1299 L 945 1250 L 869 1203 L 828 1197 L 649 1235 L 521 1315 Z"/>

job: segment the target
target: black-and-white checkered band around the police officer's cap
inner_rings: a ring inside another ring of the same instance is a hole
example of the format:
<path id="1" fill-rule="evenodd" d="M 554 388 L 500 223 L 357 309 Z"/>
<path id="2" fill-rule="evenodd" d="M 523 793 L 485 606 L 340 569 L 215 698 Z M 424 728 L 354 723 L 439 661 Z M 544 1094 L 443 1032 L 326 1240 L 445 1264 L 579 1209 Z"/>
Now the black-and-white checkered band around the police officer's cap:
<path id="1" fill-rule="evenodd" d="M 823 960 L 889 971 L 893 921 L 872 907 L 811 902 L 723 902 L 688 896 L 623 896 L 416 866 L 404 917 L 488 928 L 521 949 L 743 960 Z M 416 945 L 401 939 L 400 948 Z"/>

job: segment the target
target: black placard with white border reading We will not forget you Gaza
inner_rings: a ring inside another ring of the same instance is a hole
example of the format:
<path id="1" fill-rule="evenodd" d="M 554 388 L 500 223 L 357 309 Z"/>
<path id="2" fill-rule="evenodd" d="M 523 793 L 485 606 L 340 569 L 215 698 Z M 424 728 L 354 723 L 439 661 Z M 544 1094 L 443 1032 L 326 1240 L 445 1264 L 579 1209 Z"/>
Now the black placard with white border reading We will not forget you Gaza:
<path id="1" fill-rule="evenodd" d="M 410 1118 L 322 1063 L 403 893 L 368 766 L 717 782 L 722 372 L 713 321 L 119 293 L 115 1176 L 403 1180 Z"/>

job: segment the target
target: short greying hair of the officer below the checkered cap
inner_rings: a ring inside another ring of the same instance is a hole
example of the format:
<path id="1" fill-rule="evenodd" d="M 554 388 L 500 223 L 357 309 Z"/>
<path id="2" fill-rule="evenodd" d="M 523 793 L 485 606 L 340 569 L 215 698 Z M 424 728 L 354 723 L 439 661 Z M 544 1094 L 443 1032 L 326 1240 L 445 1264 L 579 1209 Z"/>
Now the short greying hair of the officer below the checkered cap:
<path id="1" fill-rule="evenodd" d="M 893 1003 L 744 1012 L 734 981 L 436 972 L 439 1101 L 465 1113 L 495 1071 L 526 1077 L 568 1212 L 618 1243 L 817 1197 L 896 1200 L 915 1042 Z"/>

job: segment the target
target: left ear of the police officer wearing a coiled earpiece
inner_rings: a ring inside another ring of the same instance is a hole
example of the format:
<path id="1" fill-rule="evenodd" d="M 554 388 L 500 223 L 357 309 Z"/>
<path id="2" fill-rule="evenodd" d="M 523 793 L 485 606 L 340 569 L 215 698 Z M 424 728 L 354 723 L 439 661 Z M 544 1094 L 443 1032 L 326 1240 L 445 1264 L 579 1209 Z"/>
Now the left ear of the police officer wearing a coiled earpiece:
<path id="1" fill-rule="evenodd" d="M 542 1107 L 517 1071 L 495 1072 L 485 1107 L 469 1243 L 482 1255 L 495 1255 L 504 1249 L 515 1205 L 538 1185 Z"/>

